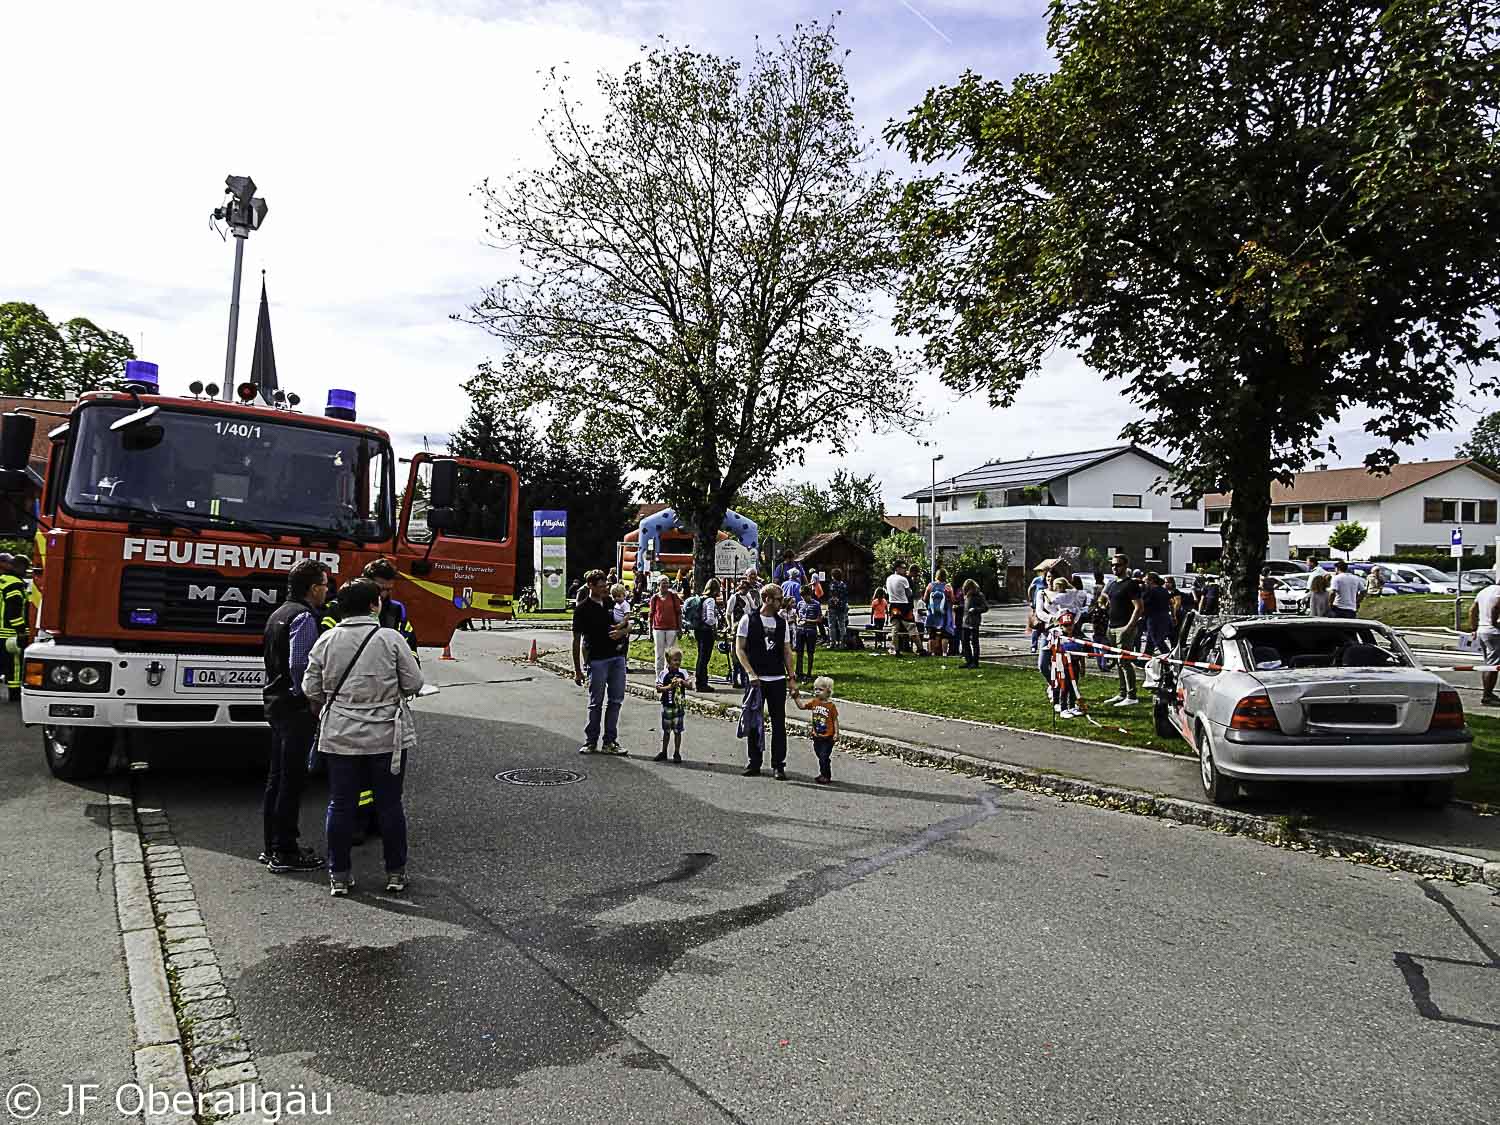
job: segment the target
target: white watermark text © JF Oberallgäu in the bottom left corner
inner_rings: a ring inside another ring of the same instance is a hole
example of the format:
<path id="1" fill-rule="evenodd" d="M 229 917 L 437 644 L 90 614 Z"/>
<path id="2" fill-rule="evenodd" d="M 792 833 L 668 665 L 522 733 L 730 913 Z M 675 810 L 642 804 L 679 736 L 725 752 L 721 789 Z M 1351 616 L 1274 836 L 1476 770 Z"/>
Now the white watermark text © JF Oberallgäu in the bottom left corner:
<path id="1" fill-rule="evenodd" d="M 159 1089 L 150 1083 L 128 1082 L 114 1089 L 99 1083 L 63 1083 L 46 1104 L 48 1098 L 28 1082 L 12 1086 L 4 1094 L 4 1113 L 10 1120 L 34 1120 L 38 1118 L 84 1118 L 104 1107 L 112 1107 L 122 1118 L 177 1114 L 212 1114 L 234 1118 L 254 1114 L 273 1125 L 297 1118 L 333 1116 L 333 1095 L 315 1094 L 300 1086 L 290 1090 L 261 1090 L 249 1083 L 226 1090 L 192 1094 L 190 1090 Z M 44 1116 L 45 1114 L 45 1116 Z"/>

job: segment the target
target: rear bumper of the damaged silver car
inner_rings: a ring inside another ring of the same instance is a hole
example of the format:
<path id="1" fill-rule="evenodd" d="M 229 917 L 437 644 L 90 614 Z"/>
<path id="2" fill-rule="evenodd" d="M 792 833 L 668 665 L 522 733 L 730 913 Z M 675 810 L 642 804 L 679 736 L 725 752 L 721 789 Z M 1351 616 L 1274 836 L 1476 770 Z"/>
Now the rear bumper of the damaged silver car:
<path id="1" fill-rule="evenodd" d="M 1473 735 L 1302 738 L 1264 730 L 1215 730 L 1214 760 L 1230 777 L 1302 782 L 1392 782 L 1468 772 Z"/>

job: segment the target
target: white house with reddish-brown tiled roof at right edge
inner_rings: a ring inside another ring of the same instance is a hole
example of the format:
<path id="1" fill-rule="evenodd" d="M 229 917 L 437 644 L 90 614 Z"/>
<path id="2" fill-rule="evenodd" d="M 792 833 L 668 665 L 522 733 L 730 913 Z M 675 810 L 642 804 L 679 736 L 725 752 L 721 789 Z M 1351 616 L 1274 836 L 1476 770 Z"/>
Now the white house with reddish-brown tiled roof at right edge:
<path id="1" fill-rule="evenodd" d="M 1228 492 L 1203 498 L 1204 524 L 1218 528 Z M 1334 526 L 1353 520 L 1370 532 L 1352 558 L 1380 558 L 1404 548 L 1448 550 L 1462 528 L 1466 550 L 1500 537 L 1500 472 L 1478 460 L 1413 460 L 1376 476 L 1364 468 L 1299 472 L 1292 488 L 1270 486 L 1270 526 L 1286 530 L 1298 554 L 1323 555 Z"/>

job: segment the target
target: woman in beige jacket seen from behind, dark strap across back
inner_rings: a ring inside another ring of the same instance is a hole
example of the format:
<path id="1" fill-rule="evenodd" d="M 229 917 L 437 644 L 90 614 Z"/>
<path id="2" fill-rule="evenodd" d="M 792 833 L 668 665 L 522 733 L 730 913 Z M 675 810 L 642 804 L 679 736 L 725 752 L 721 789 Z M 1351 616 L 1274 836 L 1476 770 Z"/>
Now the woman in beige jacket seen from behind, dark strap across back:
<path id="1" fill-rule="evenodd" d="M 303 694 L 318 716 L 318 750 L 328 766 L 328 886 L 354 886 L 350 849 L 362 789 L 375 792 L 386 848 L 386 890 L 406 890 L 406 813 L 400 804 L 405 754 L 417 744 L 406 698 L 422 690 L 422 668 L 393 628 L 381 628 L 380 586 L 357 578 L 339 590 L 344 620 L 312 646 Z"/>

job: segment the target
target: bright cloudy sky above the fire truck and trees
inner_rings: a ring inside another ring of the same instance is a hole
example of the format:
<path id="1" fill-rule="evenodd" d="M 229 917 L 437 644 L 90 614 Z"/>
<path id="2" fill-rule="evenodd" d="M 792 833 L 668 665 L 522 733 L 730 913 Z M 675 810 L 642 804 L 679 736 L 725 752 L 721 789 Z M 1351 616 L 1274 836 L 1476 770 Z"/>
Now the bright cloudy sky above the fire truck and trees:
<path id="1" fill-rule="evenodd" d="M 1044 10 L 1044 0 L 843 4 L 864 128 L 879 132 L 964 69 L 1046 69 Z M 504 272 L 471 192 L 540 160 L 540 70 L 620 70 L 658 34 L 747 54 L 756 34 L 830 12 L 798 0 L 6 4 L 0 300 L 128 333 L 165 388 L 218 380 L 232 243 L 208 212 L 226 172 L 250 174 L 270 216 L 246 252 L 242 374 L 266 270 L 282 384 L 309 402 L 354 387 L 362 418 L 404 453 L 423 440 L 441 448 L 468 412 L 459 384 L 495 356 L 490 338 L 448 320 Z M 938 416 L 928 438 L 948 472 L 1108 446 L 1131 420 L 1118 390 L 1070 356 L 1008 411 L 958 402 L 930 378 L 918 398 Z M 1449 456 L 1484 406 L 1408 456 Z M 1330 430 L 1344 464 L 1370 448 L 1362 420 Z M 878 474 L 886 507 L 910 512 L 898 496 L 927 482 L 928 456 L 882 436 L 838 464 Z M 832 468 L 813 450 L 796 476 Z"/>

